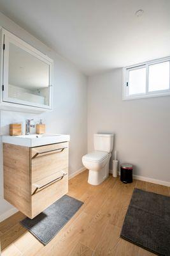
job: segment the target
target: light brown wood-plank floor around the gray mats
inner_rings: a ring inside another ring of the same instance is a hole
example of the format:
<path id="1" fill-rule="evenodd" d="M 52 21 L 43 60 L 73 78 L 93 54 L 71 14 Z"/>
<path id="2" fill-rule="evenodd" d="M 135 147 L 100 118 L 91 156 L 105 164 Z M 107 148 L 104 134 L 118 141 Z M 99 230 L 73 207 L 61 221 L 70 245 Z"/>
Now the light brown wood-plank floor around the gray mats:
<path id="1" fill-rule="evenodd" d="M 99 186 L 87 183 L 88 172 L 69 180 L 68 195 L 84 202 L 71 220 L 46 246 L 19 223 L 17 212 L 0 223 L 1 256 L 151 256 L 120 238 L 125 213 L 134 188 L 170 195 L 169 188 L 140 180 L 123 184 L 110 177 Z"/>

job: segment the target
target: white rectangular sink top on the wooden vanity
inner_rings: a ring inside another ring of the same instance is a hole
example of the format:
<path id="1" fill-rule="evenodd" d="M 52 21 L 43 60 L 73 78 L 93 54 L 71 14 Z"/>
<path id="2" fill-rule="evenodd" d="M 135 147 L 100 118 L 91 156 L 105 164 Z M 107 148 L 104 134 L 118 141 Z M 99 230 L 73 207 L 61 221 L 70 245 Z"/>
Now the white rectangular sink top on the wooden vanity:
<path id="1" fill-rule="evenodd" d="M 70 138 L 68 134 L 30 134 L 20 136 L 3 136 L 4 143 L 10 143 L 24 147 L 38 147 L 69 140 Z"/>

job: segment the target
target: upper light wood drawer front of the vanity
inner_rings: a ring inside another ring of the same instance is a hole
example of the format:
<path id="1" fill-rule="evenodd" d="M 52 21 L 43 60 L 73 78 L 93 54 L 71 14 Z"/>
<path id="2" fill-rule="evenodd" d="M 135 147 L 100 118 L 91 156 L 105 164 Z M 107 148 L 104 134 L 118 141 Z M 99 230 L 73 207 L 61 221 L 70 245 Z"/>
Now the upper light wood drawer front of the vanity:
<path id="1" fill-rule="evenodd" d="M 67 168 L 67 142 L 31 148 L 32 184 Z"/>

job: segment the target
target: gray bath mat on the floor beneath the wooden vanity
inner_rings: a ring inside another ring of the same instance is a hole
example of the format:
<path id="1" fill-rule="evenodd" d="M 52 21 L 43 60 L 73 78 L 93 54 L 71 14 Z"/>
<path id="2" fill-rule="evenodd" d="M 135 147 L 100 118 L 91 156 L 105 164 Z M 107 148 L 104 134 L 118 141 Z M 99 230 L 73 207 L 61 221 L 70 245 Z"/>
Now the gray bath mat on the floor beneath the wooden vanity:
<path id="1" fill-rule="evenodd" d="M 25 218 L 20 223 L 46 245 L 73 217 L 82 204 L 83 202 L 64 195 L 34 219 Z"/>

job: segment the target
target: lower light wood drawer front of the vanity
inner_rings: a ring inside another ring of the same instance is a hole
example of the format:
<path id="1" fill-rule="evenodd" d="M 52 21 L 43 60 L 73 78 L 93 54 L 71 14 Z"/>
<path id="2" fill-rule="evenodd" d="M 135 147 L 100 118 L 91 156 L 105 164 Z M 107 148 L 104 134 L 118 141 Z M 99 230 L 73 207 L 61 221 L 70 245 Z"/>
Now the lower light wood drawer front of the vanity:
<path id="1" fill-rule="evenodd" d="M 39 188 L 35 192 L 33 192 L 33 195 L 31 196 L 31 201 L 32 201 L 31 218 L 34 218 L 34 216 L 44 211 L 48 206 L 53 204 L 61 196 L 66 195 L 66 193 L 68 192 L 67 173 L 62 173 L 62 176 L 59 176 L 59 175 L 60 175 L 60 172 L 57 173 L 55 177 L 56 180 L 53 180 L 53 182 L 51 182 L 50 184 L 46 184 L 46 186 L 44 186 L 43 188 Z M 52 175 L 52 176 L 54 177 L 55 175 Z M 57 179 L 57 177 L 59 179 Z M 41 187 L 43 185 L 44 185 L 43 180 L 39 181 L 38 186 Z"/>

